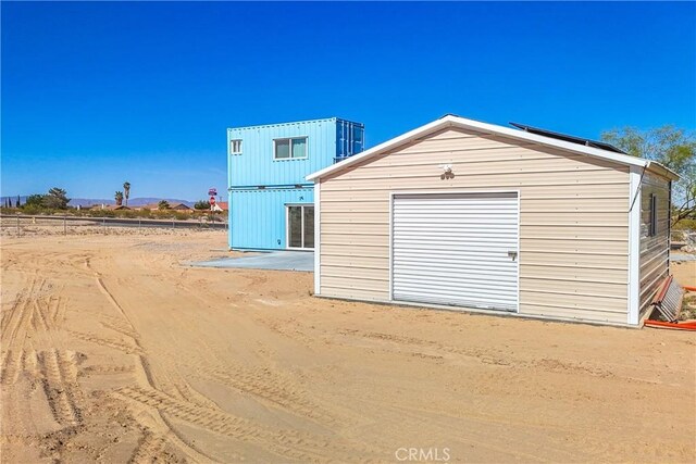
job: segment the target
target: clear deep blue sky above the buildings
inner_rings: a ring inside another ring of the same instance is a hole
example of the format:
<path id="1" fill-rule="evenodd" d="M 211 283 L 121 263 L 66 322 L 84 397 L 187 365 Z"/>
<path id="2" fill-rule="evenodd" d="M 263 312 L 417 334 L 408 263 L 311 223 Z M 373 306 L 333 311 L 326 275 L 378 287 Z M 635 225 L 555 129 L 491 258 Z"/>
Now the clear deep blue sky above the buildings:
<path id="1" fill-rule="evenodd" d="M 2 195 L 195 200 L 225 128 L 696 128 L 696 4 L 2 2 Z"/>

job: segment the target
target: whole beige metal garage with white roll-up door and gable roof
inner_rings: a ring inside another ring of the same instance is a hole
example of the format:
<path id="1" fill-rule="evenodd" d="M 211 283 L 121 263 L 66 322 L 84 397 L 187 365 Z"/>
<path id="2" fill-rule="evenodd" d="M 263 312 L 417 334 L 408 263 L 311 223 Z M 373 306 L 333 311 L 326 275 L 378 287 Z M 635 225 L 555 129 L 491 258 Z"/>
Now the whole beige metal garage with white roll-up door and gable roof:
<path id="1" fill-rule="evenodd" d="M 308 176 L 315 294 L 639 325 L 678 176 L 518 127 L 448 115 Z"/>

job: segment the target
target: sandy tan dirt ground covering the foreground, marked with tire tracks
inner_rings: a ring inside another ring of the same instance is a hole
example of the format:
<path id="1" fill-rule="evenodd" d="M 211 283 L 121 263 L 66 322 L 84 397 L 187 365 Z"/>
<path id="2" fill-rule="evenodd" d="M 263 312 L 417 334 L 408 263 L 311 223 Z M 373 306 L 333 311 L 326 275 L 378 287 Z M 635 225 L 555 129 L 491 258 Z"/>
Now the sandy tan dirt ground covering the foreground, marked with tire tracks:
<path id="1" fill-rule="evenodd" d="M 4 237 L 2 462 L 696 461 L 693 333 L 333 301 L 309 273 L 179 264 L 224 248 Z"/>

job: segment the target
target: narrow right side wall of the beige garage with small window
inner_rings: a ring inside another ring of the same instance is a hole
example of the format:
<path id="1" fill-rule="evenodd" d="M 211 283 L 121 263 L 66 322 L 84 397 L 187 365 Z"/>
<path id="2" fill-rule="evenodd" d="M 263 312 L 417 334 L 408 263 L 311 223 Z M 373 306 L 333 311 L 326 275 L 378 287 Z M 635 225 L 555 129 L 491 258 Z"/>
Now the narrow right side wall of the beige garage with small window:
<path id="1" fill-rule="evenodd" d="M 655 196 L 656 230 L 650 234 L 650 205 Z M 641 316 L 650 306 L 650 298 L 669 274 L 670 183 L 646 173 L 641 180 Z"/>

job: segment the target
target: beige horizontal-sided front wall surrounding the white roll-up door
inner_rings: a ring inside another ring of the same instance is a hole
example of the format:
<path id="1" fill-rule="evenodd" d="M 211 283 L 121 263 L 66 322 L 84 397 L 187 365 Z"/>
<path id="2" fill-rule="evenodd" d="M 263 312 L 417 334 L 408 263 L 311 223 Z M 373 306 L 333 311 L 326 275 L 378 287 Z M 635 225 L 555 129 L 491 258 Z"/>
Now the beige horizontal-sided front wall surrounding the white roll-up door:
<path id="1" fill-rule="evenodd" d="M 389 301 L 390 192 L 506 189 L 520 191 L 520 313 L 625 324 L 629 168 L 460 129 L 321 180 L 321 294 Z"/>

